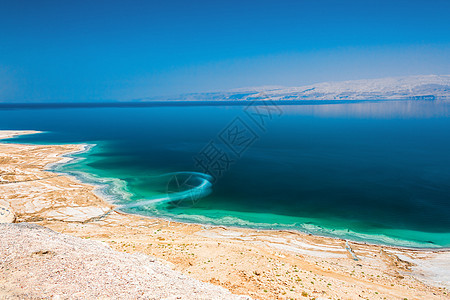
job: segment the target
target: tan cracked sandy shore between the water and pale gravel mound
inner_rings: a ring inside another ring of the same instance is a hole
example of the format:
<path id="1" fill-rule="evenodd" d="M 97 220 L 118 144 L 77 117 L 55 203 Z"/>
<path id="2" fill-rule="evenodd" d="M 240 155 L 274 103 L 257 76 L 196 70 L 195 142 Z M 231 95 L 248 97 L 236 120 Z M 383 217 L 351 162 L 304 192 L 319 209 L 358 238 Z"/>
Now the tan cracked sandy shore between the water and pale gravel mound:
<path id="1" fill-rule="evenodd" d="M 0 139 L 31 133 L 0 131 Z M 448 298 L 448 249 L 346 243 L 293 231 L 205 226 L 117 212 L 95 187 L 47 171 L 49 164 L 67 162 L 67 155 L 81 147 L 0 144 L 0 205 L 14 213 L 16 222 L 104 241 L 121 252 L 148 254 L 188 276 L 256 299 Z"/>

